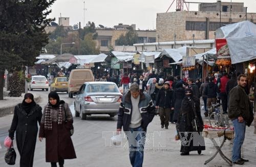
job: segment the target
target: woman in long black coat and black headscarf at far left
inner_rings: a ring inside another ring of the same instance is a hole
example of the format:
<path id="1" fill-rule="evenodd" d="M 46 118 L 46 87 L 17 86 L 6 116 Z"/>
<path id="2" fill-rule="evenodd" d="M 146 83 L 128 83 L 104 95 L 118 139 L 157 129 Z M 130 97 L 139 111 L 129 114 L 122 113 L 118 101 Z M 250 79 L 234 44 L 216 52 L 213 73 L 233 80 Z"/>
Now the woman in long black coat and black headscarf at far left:
<path id="1" fill-rule="evenodd" d="M 14 139 L 20 155 L 20 167 L 32 167 L 34 160 L 38 125 L 42 117 L 42 108 L 34 102 L 34 96 L 26 93 L 22 103 L 15 106 L 9 137 Z"/>

